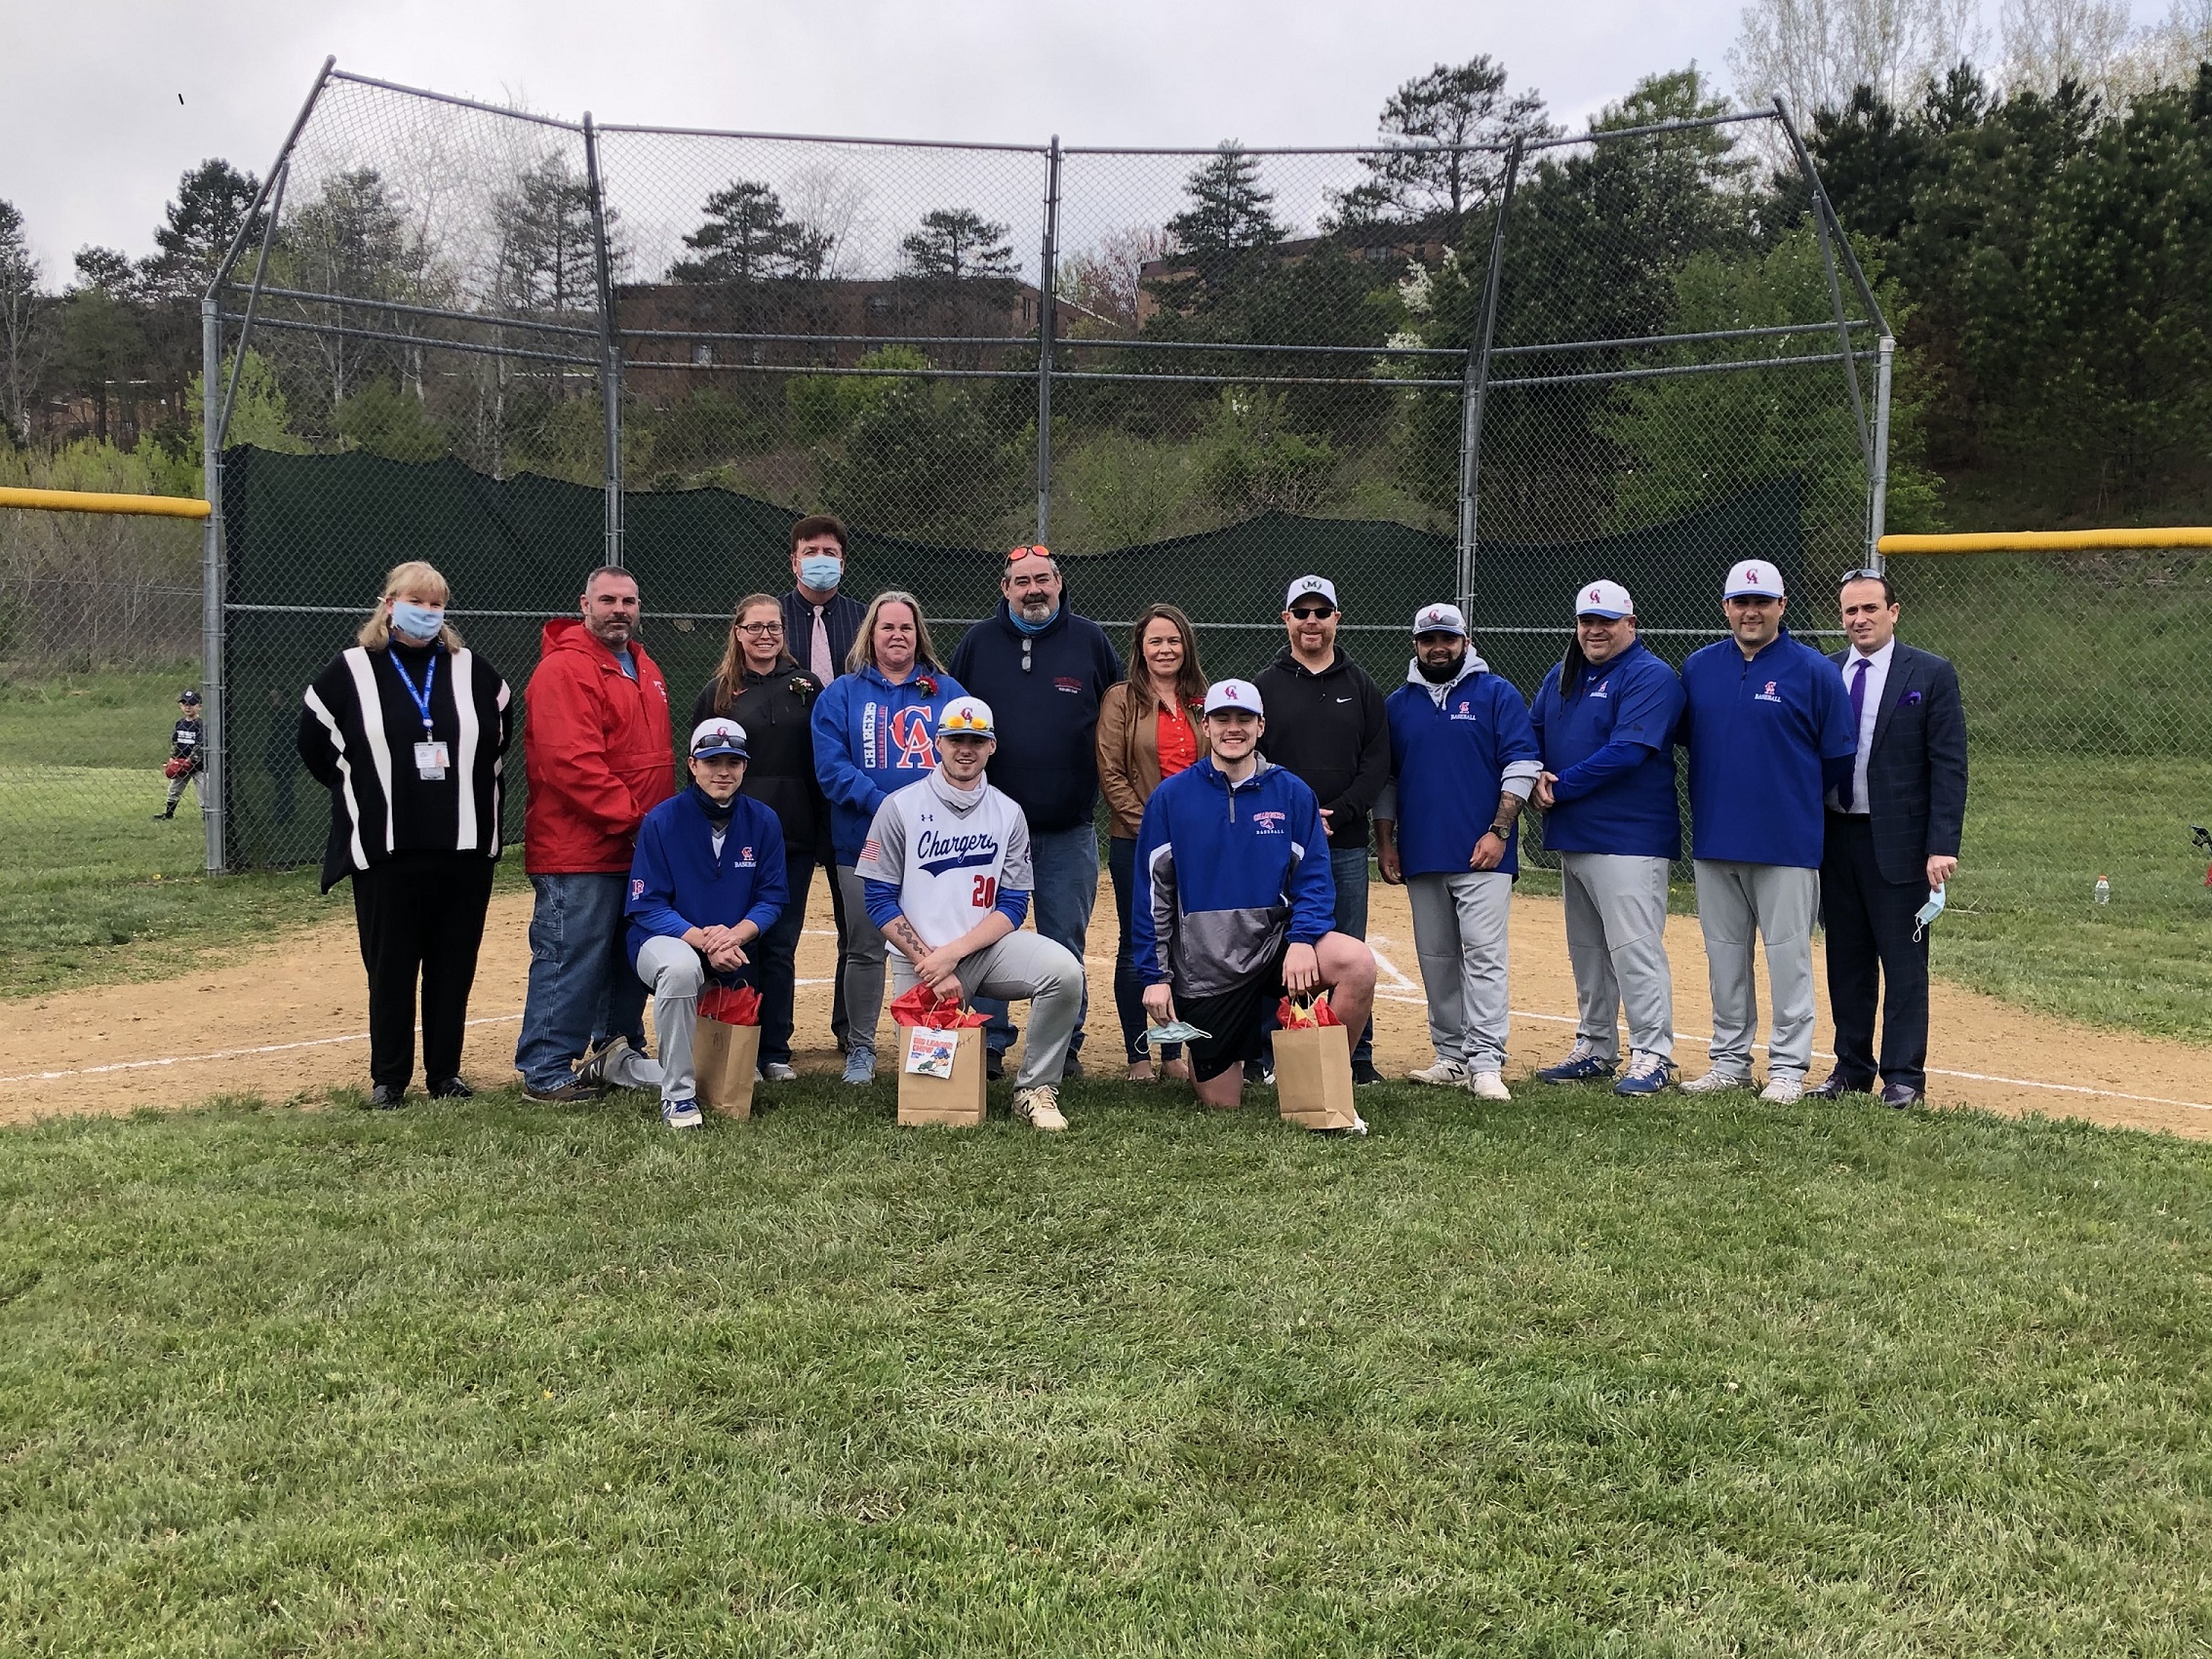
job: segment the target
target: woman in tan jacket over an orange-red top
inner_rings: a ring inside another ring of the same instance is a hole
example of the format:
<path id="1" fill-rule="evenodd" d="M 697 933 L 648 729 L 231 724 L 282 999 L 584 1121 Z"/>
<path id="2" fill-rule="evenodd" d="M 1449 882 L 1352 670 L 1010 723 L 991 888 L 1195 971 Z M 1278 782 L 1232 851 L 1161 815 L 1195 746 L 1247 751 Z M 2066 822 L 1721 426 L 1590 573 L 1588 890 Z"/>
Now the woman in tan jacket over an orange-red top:
<path id="1" fill-rule="evenodd" d="M 1130 675 L 1099 699 L 1099 787 L 1113 812 L 1106 845 L 1106 867 L 1113 874 L 1113 907 L 1121 920 L 1121 949 L 1113 960 L 1113 1002 L 1121 1015 L 1121 1044 L 1128 1051 L 1128 1079 L 1152 1082 L 1152 1053 L 1146 1048 L 1144 984 L 1128 949 L 1128 898 L 1137 876 L 1137 825 L 1144 803 L 1161 779 L 1175 776 L 1206 754 L 1206 723 L 1199 708 L 1206 701 L 1206 668 L 1199 666 L 1199 639 L 1190 617 L 1172 604 L 1146 606 L 1130 641 Z M 1179 1046 L 1161 1046 L 1161 1064 L 1170 1077 L 1188 1077 L 1190 1066 Z"/>

